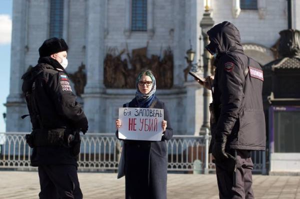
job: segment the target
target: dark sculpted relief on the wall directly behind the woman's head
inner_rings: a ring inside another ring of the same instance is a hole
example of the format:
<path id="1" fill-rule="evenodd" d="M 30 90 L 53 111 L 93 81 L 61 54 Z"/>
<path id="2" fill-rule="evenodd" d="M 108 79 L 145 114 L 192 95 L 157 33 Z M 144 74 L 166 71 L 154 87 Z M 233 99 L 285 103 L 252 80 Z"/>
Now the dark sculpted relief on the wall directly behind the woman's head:
<path id="1" fill-rule="evenodd" d="M 104 59 L 106 88 L 135 88 L 135 78 L 142 69 L 150 69 L 154 73 L 157 88 L 171 88 L 173 85 L 171 49 L 165 49 L 162 58 L 153 54 L 148 58 L 146 54 L 147 47 L 133 49 L 131 54 L 128 48 L 120 52 L 116 48 L 109 48 Z"/>

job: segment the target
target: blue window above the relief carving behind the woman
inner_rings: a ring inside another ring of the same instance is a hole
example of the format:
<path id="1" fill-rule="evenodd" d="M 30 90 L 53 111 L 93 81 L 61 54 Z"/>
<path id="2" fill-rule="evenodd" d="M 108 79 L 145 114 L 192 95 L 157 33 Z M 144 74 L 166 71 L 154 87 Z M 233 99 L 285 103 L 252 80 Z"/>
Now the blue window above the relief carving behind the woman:
<path id="1" fill-rule="evenodd" d="M 147 31 L 147 0 L 132 0 L 131 31 Z"/>

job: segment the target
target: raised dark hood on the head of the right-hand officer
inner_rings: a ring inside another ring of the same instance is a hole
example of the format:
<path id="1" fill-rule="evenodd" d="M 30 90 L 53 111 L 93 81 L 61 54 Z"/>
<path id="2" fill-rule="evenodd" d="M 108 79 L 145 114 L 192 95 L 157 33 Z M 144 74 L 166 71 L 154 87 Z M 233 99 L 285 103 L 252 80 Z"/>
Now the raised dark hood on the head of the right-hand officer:
<path id="1" fill-rule="evenodd" d="M 243 52 L 238 29 L 230 22 L 223 21 L 207 31 L 210 43 L 205 48 L 210 54 Z"/>

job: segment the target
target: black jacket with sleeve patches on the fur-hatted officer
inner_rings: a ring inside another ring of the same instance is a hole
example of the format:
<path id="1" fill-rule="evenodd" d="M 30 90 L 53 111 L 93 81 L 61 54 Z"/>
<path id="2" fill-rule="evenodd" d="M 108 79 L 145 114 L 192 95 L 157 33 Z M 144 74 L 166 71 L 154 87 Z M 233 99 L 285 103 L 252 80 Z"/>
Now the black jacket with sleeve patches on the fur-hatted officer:
<path id="1" fill-rule="evenodd" d="M 50 57 L 42 57 L 38 64 L 23 76 L 22 92 L 31 93 L 28 107 L 32 129 L 87 129 L 87 119 L 76 96 L 72 93 L 69 78 L 63 67 Z M 35 108 L 35 111 L 32 111 Z M 39 115 L 39 119 L 35 114 Z M 40 164 L 76 164 L 70 149 L 64 147 L 34 148 L 32 166 Z"/>

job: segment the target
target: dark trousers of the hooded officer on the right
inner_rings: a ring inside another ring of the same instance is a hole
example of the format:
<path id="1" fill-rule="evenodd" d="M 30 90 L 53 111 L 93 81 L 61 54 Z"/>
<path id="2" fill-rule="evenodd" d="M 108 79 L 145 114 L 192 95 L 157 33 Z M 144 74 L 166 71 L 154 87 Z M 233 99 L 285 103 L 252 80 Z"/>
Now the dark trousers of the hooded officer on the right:
<path id="1" fill-rule="evenodd" d="M 230 151 L 230 154 L 234 155 L 234 153 L 234 151 Z M 250 157 L 250 151 L 236 150 L 236 159 L 235 174 L 233 173 L 235 162 L 232 159 L 215 162 L 219 198 L 254 199 L 251 173 L 253 163 Z M 235 178 L 235 185 L 233 184 L 233 178 Z"/>

